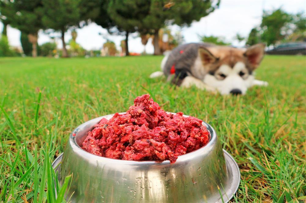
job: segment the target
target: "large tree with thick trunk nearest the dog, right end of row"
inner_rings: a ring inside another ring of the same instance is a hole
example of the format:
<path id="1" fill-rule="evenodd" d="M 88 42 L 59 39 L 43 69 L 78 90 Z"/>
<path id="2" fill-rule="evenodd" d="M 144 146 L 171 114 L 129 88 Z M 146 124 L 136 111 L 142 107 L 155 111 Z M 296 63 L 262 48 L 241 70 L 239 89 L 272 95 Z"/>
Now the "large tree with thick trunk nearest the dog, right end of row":
<path id="1" fill-rule="evenodd" d="M 169 0 L 150 1 L 150 10 L 139 28 L 142 34 L 153 34 L 154 54 L 161 54 L 159 48 L 159 30 L 167 24 L 190 26 L 218 8 L 220 1 Z"/>

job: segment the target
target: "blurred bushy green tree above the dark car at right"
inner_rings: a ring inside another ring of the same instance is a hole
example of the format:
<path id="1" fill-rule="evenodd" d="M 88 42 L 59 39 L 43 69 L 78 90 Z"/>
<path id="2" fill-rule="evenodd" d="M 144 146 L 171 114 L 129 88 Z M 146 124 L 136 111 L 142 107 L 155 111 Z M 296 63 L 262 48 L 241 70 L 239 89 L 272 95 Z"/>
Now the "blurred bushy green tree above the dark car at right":
<path id="1" fill-rule="evenodd" d="M 267 45 L 274 45 L 276 42 L 281 41 L 287 35 L 290 27 L 289 23 L 292 22 L 292 15 L 286 13 L 282 9 L 277 9 L 272 12 L 263 12 L 263 19 L 261 22 L 261 40 L 266 42 Z"/>

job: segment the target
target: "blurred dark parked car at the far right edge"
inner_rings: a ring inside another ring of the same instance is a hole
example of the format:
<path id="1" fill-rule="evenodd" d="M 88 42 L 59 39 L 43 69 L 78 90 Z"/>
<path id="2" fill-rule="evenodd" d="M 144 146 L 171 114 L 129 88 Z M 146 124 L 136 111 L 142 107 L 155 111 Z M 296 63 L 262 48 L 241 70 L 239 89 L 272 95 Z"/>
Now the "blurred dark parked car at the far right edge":
<path id="1" fill-rule="evenodd" d="M 306 55 L 306 42 L 290 42 L 268 50 L 267 54 Z"/>

